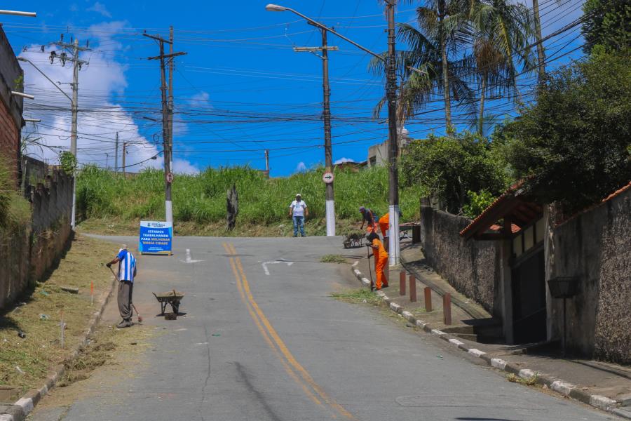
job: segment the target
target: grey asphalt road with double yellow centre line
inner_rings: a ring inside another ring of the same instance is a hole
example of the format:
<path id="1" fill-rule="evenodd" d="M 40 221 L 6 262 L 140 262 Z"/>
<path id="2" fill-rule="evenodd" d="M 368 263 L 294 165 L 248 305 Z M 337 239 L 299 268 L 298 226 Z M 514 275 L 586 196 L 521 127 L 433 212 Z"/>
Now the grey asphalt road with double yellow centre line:
<path id="1" fill-rule="evenodd" d="M 330 298 L 349 281 L 318 260 L 342 252 L 339 238 L 174 244 L 171 257 L 140 259 L 135 286 L 147 323 L 168 334 L 153 339 L 133 376 L 93 382 L 96 393 L 63 420 L 616 419 L 510 383 L 379 309 Z M 151 291 L 172 288 L 186 292 L 186 316 L 165 321 Z"/>

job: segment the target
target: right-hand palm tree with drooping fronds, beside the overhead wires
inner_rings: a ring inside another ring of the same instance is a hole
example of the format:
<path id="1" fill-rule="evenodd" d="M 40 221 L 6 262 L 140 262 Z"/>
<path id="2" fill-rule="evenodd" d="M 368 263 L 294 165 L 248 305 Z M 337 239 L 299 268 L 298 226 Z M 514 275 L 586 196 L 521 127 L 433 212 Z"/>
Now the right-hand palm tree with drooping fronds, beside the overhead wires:
<path id="1" fill-rule="evenodd" d="M 475 76 L 480 83 L 478 131 L 484 125 L 486 95 L 520 98 L 515 62 L 533 67 L 529 41 L 534 34 L 528 8 L 507 0 L 482 0 L 473 5 L 470 20 L 475 28 L 473 57 Z"/>

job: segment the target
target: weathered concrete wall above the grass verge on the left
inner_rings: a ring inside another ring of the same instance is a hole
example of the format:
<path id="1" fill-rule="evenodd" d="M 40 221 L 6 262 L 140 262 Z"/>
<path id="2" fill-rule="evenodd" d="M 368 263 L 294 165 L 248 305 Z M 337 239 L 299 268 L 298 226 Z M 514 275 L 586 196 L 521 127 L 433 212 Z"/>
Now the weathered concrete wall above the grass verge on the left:
<path id="1" fill-rule="evenodd" d="M 0 309 L 29 283 L 40 281 L 65 252 L 72 229 L 72 177 L 45 163 L 25 158 L 25 196 L 32 203 L 32 224 L 0 230 Z M 26 175 L 36 182 L 32 185 Z"/>

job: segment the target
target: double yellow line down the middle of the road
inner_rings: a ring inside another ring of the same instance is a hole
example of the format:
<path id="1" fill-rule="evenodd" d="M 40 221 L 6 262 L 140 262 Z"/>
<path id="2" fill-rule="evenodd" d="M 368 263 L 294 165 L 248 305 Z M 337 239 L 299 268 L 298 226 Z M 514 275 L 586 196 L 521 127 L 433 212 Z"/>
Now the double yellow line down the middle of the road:
<path id="1" fill-rule="evenodd" d="M 229 244 L 229 247 L 231 248 L 232 254 L 236 255 L 236 250 L 234 246 L 232 244 Z M 355 420 L 355 417 L 353 417 L 353 414 L 349 413 L 348 410 L 346 410 L 346 408 L 344 408 L 339 403 L 337 403 L 337 401 L 335 401 L 332 397 L 328 396 L 326 392 L 322 389 L 322 387 L 320 387 L 320 385 L 318 385 L 318 383 L 316 383 L 315 380 L 313 380 L 313 377 L 311 377 L 308 371 L 305 370 L 305 368 L 301 366 L 301 364 L 294 358 L 290 350 L 287 348 L 287 345 L 285 345 L 285 342 L 283 342 L 283 340 L 280 339 L 280 336 L 276 332 L 276 329 L 274 329 L 273 326 L 271 326 L 271 323 L 269 322 L 269 320 L 267 319 L 267 317 L 265 316 L 265 314 L 262 312 L 259 305 L 257 304 L 256 300 L 252 296 L 252 293 L 250 291 L 250 284 L 247 282 L 247 277 L 245 276 L 245 271 L 243 270 L 243 265 L 241 264 L 240 258 L 234 258 L 234 262 L 236 263 L 236 266 L 239 269 L 239 273 L 241 275 L 241 281 L 243 282 L 243 290 L 245 291 L 245 296 L 247 297 L 247 301 L 250 302 L 250 305 L 252 306 L 255 313 L 259 317 L 259 320 L 263 323 L 263 325 L 267 329 L 267 332 L 269 332 L 269 335 L 271 336 L 273 341 L 276 342 L 276 346 L 278 347 L 278 349 L 280 349 L 280 352 L 283 354 L 283 356 L 285 356 L 285 359 L 287 360 L 287 362 L 289 362 L 290 365 L 295 370 L 297 370 L 297 372 L 301 375 L 303 380 L 307 382 L 308 385 L 310 385 L 313 390 L 315 390 L 315 393 L 317 393 L 320 396 L 320 398 L 323 399 L 323 401 L 325 401 L 332 408 L 337 410 L 339 414 L 344 415 L 344 417 L 347 417 L 349 420 Z"/>

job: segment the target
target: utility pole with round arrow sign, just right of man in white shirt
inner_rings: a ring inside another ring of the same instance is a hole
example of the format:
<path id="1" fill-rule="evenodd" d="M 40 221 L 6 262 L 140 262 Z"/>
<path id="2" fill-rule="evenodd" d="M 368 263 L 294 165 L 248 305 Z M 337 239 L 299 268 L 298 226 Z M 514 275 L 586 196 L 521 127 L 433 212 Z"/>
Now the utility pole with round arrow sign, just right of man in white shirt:
<path id="1" fill-rule="evenodd" d="M 313 25 L 308 22 L 309 25 Z M 315 25 L 317 26 L 317 25 Z M 297 53 L 313 53 L 322 59 L 322 88 L 323 88 L 323 112 L 322 119 L 325 129 L 325 171 L 331 173 L 333 171 L 333 152 L 331 147 L 331 88 L 329 85 L 329 51 L 339 50 L 338 47 L 330 47 L 327 44 L 327 30 L 320 28 L 322 32 L 322 47 L 294 47 Z M 322 55 L 318 55 L 315 51 L 320 51 Z M 326 219 L 327 219 L 327 236 L 335 235 L 335 196 L 333 192 L 333 182 L 326 184 Z"/>

